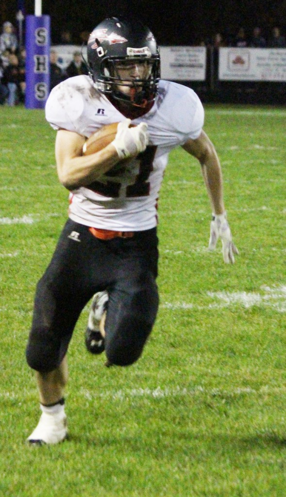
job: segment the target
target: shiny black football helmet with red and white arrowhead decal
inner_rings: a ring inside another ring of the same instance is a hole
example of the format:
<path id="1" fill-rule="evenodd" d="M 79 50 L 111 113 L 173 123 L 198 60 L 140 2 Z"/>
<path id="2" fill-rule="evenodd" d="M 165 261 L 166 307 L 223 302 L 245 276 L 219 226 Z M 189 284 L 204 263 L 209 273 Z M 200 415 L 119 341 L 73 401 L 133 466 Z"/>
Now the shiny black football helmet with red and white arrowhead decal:
<path id="1" fill-rule="evenodd" d="M 144 79 L 120 78 L 116 66 L 124 67 L 132 62 L 146 64 L 148 70 Z M 117 17 L 100 22 L 88 41 L 88 65 L 95 87 L 101 93 L 140 107 L 155 99 L 160 79 L 160 55 L 153 34 L 141 22 Z M 118 85 L 128 86 L 133 91 L 126 95 Z"/>

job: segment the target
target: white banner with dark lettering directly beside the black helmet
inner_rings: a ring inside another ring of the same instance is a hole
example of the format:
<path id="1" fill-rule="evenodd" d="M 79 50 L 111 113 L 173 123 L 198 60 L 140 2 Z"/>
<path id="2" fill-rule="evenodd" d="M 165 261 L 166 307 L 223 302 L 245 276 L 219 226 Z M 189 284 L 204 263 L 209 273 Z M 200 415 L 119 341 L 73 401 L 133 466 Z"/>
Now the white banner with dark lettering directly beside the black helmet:
<path id="1" fill-rule="evenodd" d="M 160 56 L 162 80 L 205 80 L 205 47 L 160 47 Z"/>

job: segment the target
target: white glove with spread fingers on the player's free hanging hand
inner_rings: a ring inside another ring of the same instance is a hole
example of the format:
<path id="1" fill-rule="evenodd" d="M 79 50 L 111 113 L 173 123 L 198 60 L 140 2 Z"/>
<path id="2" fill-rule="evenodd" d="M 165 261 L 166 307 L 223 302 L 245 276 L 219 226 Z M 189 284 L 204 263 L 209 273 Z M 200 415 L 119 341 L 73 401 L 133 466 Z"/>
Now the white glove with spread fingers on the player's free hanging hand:
<path id="1" fill-rule="evenodd" d="M 223 260 L 227 264 L 231 262 L 234 263 L 234 253 L 238 254 L 238 250 L 232 242 L 232 236 L 228 222 L 226 219 L 226 212 L 223 214 L 213 214 L 210 223 L 210 237 L 208 243 L 208 249 L 214 250 L 216 247 L 216 242 L 218 238 L 221 238 L 222 242 L 222 254 Z"/>

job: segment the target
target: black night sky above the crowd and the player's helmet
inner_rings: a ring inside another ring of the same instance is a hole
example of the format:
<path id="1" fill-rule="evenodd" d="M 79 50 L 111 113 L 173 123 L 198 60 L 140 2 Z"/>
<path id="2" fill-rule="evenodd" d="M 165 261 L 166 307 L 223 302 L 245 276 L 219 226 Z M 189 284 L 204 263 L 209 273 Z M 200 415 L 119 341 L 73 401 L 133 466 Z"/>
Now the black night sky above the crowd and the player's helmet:
<path id="1" fill-rule="evenodd" d="M 34 14 L 34 0 L 25 0 L 24 5 L 26 14 Z M 10 20 L 16 26 L 17 10 L 17 1 L 2 0 L 0 23 Z M 139 17 L 159 45 L 199 44 L 216 32 L 229 40 L 241 26 L 250 34 L 258 25 L 268 37 L 271 28 L 278 25 L 286 34 L 286 0 L 42 0 L 42 13 L 51 16 L 54 44 L 59 43 L 64 29 L 71 31 L 74 43 L 79 43 L 82 31 L 91 32 L 104 17 L 120 12 Z"/>

